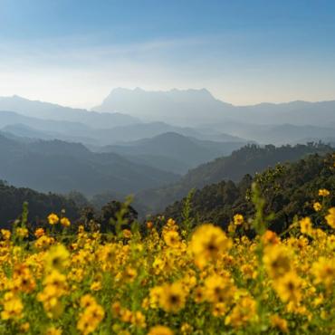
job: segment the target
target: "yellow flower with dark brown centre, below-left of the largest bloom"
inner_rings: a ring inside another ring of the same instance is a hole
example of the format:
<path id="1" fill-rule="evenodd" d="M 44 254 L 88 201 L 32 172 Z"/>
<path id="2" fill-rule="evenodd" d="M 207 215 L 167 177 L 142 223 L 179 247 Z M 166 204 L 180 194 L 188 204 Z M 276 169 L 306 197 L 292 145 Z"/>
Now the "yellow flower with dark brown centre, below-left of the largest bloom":
<path id="1" fill-rule="evenodd" d="M 186 292 L 180 282 L 166 284 L 159 297 L 159 305 L 164 311 L 177 312 L 184 308 Z"/>

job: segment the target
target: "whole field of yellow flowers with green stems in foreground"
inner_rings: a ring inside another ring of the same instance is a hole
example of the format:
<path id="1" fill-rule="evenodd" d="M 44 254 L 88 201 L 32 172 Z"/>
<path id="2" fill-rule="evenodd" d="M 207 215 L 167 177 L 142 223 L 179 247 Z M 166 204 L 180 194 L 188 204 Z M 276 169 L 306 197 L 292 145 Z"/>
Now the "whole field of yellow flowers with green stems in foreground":
<path id="1" fill-rule="evenodd" d="M 327 196 L 314 204 L 321 225 L 297 218 L 282 236 L 267 230 L 260 199 L 254 218 L 235 215 L 226 231 L 161 218 L 162 228 L 70 235 L 64 215 L 34 231 L 23 218 L 1 231 L 0 333 L 335 333 Z"/>

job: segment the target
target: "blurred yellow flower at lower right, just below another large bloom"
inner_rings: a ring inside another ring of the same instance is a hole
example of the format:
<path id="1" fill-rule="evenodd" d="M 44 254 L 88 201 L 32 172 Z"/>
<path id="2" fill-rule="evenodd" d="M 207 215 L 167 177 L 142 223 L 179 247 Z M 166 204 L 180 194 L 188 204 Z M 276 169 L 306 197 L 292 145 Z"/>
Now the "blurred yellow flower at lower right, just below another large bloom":
<path id="1" fill-rule="evenodd" d="M 302 300 L 302 279 L 295 272 L 283 274 L 273 282 L 273 288 L 282 302 L 297 304 Z"/>

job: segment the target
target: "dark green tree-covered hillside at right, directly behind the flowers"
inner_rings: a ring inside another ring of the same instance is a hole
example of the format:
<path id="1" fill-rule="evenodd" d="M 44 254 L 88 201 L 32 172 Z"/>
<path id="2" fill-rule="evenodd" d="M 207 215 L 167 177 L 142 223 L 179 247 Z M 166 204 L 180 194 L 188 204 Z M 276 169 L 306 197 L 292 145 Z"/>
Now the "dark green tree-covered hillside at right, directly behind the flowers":
<path id="1" fill-rule="evenodd" d="M 277 165 L 263 173 L 244 178 L 237 184 L 221 181 L 197 190 L 191 200 L 191 217 L 199 222 L 213 222 L 226 226 L 235 214 L 251 217 L 254 206 L 251 201 L 251 186 L 254 181 L 260 186 L 266 201 L 267 214 L 274 213 L 270 228 L 282 232 L 292 223 L 293 217 L 311 216 L 314 223 L 321 214 L 313 209 L 315 201 L 325 201 L 326 207 L 335 206 L 335 156 L 311 155 L 295 163 Z M 330 196 L 318 196 L 318 190 L 330 190 Z M 164 215 L 183 220 L 186 198 L 168 206 Z"/>

